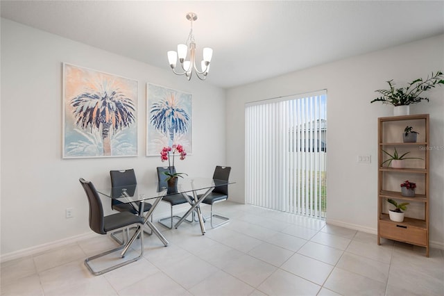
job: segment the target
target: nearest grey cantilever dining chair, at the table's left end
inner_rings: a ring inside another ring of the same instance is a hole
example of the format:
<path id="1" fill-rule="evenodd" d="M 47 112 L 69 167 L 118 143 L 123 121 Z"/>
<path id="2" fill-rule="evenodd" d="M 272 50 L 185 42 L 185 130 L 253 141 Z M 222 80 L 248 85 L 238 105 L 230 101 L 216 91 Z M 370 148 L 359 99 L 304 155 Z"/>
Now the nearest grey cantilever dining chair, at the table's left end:
<path id="1" fill-rule="evenodd" d="M 138 215 L 134 215 L 133 213 L 130 213 L 128 211 L 119 212 L 116 214 L 105 216 L 103 215 L 103 206 L 101 199 L 99 197 L 99 193 L 96 191 L 96 188 L 94 187 L 94 184 L 90 181 L 86 181 L 83 178 L 79 179 L 80 184 L 82 185 L 83 189 L 85 190 L 88 203 L 89 203 L 89 228 L 91 228 L 92 231 L 99 234 L 107 234 L 110 231 L 114 231 L 117 229 L 125 229 L 130 226 L 137 226 L 137 231 L 135 232 L 135 235 L 133 236 L 132 240 L 130 242 L 127 242 L 128 245 L 132 244 L 134 239 L 136 237 L 140 238 L 140 254 L 139 256 L 135 258 L 130 258 L 126 261 L 121 261 L 119 259 L 119 263 L 111 265 L 108 268 L 103 268 L 102 270 L 94 270 L 93 266 L 90 264 L 94 259 L 101 258 L 103 256 L 106 256 L 108 254 L 111 254 L 113 252 L 117 252 L 124 247 L 126 247 L 126 244 L 119 245 L 119 247 L 116 247 L 114 249 L 110 249 L 106 252 L 102 252 L 100 254 L 90 256 L 85 259 L 85 265 L 88 268 L 89 272 L 91 272 L 94 275 L 104 274 L 105 272 L 109 272 L 111 270 L 115 270 L 116 268 L 119 268 L 123 265 L 127 265 L 129 263 L 132 263 L 134 261 L 139 260 L 139 258 L 142 258 L 144 255 L 144 236 L 140 236 L 139 233 L 142 231 L 144 227 L 144 219 L 143 217 L 140 217 Z M 108 258 L 107 261 L 110 261 Z"/>

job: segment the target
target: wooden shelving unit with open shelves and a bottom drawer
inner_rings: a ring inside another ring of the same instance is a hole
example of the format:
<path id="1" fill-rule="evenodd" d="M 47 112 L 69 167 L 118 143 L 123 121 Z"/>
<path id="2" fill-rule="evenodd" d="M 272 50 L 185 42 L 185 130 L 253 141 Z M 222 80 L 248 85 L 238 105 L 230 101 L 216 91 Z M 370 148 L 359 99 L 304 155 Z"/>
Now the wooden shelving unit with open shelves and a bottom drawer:
<path id="1" fill-rule="evenodd" d="M 402 142 L 405 126 L 418 131 L 418 142 Z M 426 248 L 429 256 L 429 115 L 405 115 L 378 118 L 378 222 L 377 244 L 381 238 L 407 242 Z M 406 160 L 406 168 L 394 169 L 382 163 L 387 159 L 382 150 L 398 150 L 398 154 L 409 151 L 407 157 L 422 160 Z M 401 195 L 400 184 L 405 180 L 416 183 L 415 197 Z M 387 199 L 409 202 L 404 222 L 393 222 L 388 217 L 391 208 Z M 414 210 L 409 212 L 410 208 Z"/>

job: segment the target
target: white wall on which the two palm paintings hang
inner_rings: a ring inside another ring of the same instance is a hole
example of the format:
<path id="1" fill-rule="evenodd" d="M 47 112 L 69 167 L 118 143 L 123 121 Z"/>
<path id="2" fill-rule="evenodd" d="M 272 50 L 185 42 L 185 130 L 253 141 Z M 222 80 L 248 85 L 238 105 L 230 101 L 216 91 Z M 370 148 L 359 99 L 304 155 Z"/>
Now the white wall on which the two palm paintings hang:
<path id="1" fill-rule="evenodd" d="M 139 81 L 137 157 L 62 159 L 64 62 Z M 176 167 L 212 176 L 225 165 L 225 90 L 174 75 L 166 57 L 159 69 L 1 19 L 2 258 L 90 232 L 79 177 L 100 188 L 110 170 L 134 167 L 139 180 L 157 179 L 155 167 L 164 163 L 145 156 L 146 83 L 193 94 L 193 155 Z M 162 204 L 159 211 L 169 211 Z M 74 218 L 65 218 L 65 208 L 74 208 Z"/>

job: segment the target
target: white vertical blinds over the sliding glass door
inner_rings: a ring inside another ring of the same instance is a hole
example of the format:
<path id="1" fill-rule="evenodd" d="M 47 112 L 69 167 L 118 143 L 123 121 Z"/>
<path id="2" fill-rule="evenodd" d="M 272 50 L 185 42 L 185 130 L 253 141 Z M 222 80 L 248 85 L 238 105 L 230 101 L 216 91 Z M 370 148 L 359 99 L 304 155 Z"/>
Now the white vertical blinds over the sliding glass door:
<path id="1" fill-rule="evenodd" d="M 325 217 L 327 92 L 246 104 L 246 202 Z"/>

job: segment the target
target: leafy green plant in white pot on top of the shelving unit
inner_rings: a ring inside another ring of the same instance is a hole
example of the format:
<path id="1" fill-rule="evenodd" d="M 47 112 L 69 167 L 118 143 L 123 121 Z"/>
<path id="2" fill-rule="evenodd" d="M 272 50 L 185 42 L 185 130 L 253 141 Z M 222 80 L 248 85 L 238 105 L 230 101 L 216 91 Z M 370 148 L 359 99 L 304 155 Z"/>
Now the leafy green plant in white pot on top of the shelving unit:
<path id="1" fill-rule="evenodd" d="M 407 88 L 395 88 L 393 79 L 387 81 L 387 83 L 389 86 L 388 90 L 375 90 L 375 92 L 379 92 L 382 96 L 373 99 L 370 103 L 381 101 L 382 104 L 395 106 L 395 115 L 408 115 L 409 105 L 418 104 L 420 101 L 429 101 L 426 97 L 420 97 L 422 92 L 444 84 L 444 80 L 443 73 L 438 71 L 435 74 L 432 72 L 432 76 L 427 76 L 427 79 L 418 78 L 411 81 L 411 83 L 407 83 Z M 399 106 L 404 106 L 402 109 L 404 109 L 406 114 L 403 114 L 403 111 L 399 110 L 400 108 L 396 108 Z"/>

